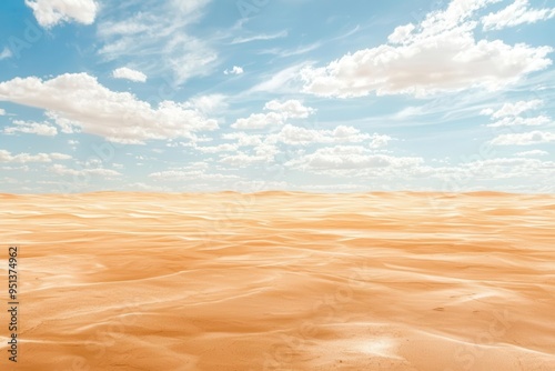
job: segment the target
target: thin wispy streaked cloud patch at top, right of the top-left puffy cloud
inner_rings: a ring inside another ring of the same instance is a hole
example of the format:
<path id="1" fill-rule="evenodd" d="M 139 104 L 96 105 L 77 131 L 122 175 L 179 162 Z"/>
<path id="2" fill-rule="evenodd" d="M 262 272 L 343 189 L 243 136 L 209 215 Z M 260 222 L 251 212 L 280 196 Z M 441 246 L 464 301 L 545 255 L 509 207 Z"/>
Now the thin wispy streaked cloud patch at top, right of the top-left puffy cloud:
<path id="1" fill-rule="evenodd" d="M 216 66 L 218 52 L 209 38 L 196 38 L 189 29 L 203 16 L 209 2 L 144 2 L 139 12 L 117 19 L 108 16 L 98 28 L 103 41 L 99 53 L 110 61 L 140 61 L 141 70 L 149 76 L 172 73 L 171 84 L 208 76 Z M 108 8 L 107 14 L 111 13 L 121 12 L 110 12 Z"/>

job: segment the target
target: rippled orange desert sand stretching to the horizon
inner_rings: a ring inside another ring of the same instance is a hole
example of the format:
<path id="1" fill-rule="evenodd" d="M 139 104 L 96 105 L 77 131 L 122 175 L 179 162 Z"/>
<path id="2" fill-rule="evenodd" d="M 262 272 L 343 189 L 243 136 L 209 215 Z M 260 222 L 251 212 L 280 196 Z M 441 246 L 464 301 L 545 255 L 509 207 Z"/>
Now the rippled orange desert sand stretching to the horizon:
<path id="1" fill-rule="evenodd" d="M 0 204 L 4 304 L 9 244 L 21 291 L 2 370 L 555 370 L 555 197 Z"/>

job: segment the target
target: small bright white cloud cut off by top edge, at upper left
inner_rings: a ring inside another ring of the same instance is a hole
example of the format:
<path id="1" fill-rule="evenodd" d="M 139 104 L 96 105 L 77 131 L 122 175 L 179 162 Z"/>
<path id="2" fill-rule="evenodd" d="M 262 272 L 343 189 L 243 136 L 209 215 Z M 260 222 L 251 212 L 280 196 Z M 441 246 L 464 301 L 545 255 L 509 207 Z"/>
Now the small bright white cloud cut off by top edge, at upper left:
<path id="1" fill-rule="evenodd" d="M 26 6 L 44 28 L 69 21 L 92 24 L 99 11 L 93 0 L 26 0 Z"/>

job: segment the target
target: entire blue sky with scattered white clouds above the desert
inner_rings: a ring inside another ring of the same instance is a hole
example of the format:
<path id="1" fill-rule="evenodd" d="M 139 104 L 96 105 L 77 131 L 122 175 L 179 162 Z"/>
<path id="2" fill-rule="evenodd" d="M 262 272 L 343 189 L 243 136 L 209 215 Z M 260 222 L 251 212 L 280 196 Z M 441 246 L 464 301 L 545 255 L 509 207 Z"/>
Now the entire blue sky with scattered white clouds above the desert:
<path id="1" fill-rule="evenodd" d="M 0 3 L 1 192 L 555 192 L 555 3 Z"/>

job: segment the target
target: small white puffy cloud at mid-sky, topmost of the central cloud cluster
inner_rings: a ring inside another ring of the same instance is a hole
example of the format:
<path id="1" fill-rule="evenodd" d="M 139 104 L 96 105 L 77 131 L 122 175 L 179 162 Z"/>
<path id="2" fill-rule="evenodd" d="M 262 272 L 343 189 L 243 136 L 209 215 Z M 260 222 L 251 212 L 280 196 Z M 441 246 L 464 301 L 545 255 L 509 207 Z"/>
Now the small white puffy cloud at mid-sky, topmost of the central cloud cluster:
<path id="1" fill-rule="evenodd" d="M 315 112 L 314 109 L 293 99 L 284 102 L 269 101 L 264 109 L 271 112 L 252 113 L 248 118 L 238 119 L 231 127 L 234 129 L 263 129 L 270 126 L 282 126 L 287 119 L 304 119 Z"/>

